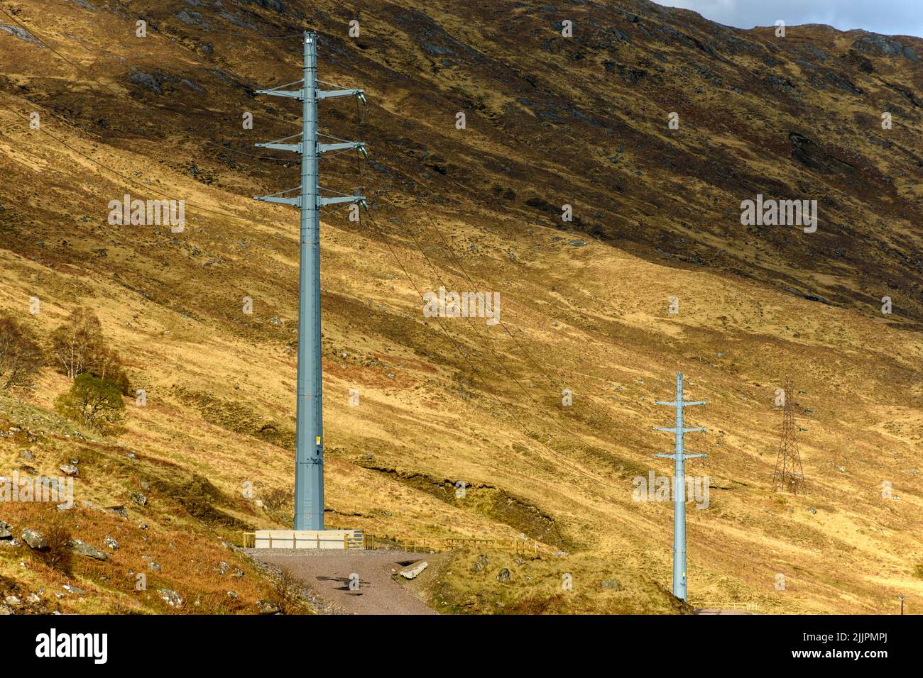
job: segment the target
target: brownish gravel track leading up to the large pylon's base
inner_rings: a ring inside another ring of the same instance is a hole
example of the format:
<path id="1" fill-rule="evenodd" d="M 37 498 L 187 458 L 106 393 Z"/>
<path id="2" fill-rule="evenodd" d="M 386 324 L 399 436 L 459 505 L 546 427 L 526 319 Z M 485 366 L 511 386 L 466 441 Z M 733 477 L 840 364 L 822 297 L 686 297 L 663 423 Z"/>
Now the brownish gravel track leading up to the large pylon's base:
<path id="1" fill-rule="evenodd" d="M 352 614 L 436 614 L 408 589 L 391 579 L 426 553 L 403 551 L 333 551 L 314 549 L 246 549 L 254 560 L 285 567 L 326 601 Z M 359 589 L 350 590 L 357 575 Z"/>

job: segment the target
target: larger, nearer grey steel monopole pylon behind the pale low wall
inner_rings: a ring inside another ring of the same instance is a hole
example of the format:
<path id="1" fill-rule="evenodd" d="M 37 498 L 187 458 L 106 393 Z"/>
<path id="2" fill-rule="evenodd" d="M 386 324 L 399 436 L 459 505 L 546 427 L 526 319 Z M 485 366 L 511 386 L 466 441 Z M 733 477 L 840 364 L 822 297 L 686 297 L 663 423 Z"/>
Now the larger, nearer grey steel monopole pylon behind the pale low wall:
<path id="1" fill-rule="evenodd" d="M 304 77 L 275 89 L 258 89 L 257 94 L 302 101 L 302 131 L 268 144 L 262 149 L 289 150 L 301 154 L 301 185 L 256 200 L 295 205 L 301 208 L 301 251 L 298 285 L 298 395 L 295 427 L 294 529 L 324 529 L 324 437 L 323 395 L 320 372 L 320 216 L 319 208 L 335 203 L 366 204 L 365 196 L 321 197 L 318 158 L 329 150 L 357 149 L 366 154 L 361 141 L 321 144 L 318 142 L 318 101 L 330 97 L 354 96 L 366 102 L 363 89 L 318 89 L 318 35 L 304 36 Z M 301 89 L 281 89 L 297 83 Z M 300 143 L 282 143 L 294 137 Z M 326 136 L 326 135 L 325 135 Z M 331 137 L 332 138 L 332 137 Z M 299 191 L 298 196 L 283 194 Z"/>

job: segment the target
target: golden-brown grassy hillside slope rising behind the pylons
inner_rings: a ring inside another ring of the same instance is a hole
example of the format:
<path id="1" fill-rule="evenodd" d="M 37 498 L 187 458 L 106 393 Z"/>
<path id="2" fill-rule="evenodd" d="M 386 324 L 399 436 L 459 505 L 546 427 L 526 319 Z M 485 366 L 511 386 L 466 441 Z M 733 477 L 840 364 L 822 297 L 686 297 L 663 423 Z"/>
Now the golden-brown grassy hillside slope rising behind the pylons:
<path id="1" fill-rule="evenodd" d="M 534 576 L 509 563 L 505 589 L 496 557 L 486 575 L 446 570 L 444 611 L 682 612 L 668 594 L 672 506 L 633 501 L 632 479 L 672 473 L 651 456 L 672 445 L 651 430 L 672 410 L 653 400 L 683 372 L 708 400 L 689 417 L 709 432 L 689 446 L 709 456 L 689 473 L 712 487 L 706 510 L 689 509 L 690 602 L 884 613 L 898 592 L 923 596 L 923 42 L 822 26 L 775 38 L 647 2 L 0 9 L 0 309 L 47 338 L 71 308 L 94 308 L 148 394 L 112 436 L 54 413 L 68 383 L 51 367 L 33 393 L 0 394 L 0 471 L 26 448 L 44 474 L 80 458 L 66 519 L 96 545 L 121 532 L 109 561 L 76 563 L 96 595 L 51 604 L 174 610 L 157 587 L 134 590 L 144 555 L 198 609 L 252 612 L 265 594 L 219 542 L 284 527 L 292 510 L 297 217 L 251 196 L 297 169 L 252 145 L 293 134 L 300 112 L 253 90 L 298 77 L 297 38 L 268 37 L 306 25 L 320 77 L 370 104 L 320 113 L 326 133 L 371 151 L 321 167 L 325 186 L 371 198 L 360 224 L 343 210 L 322 223 L 330 527 L 522 534 L 569 553 Z M 126 193 L 185 199 L 185 232 L 109 225 Z M 817 232 L 741 225 L 758 194 L 817 199 Z M 501 323 L 425 317 L 421 293 L 440 285 L 498 291 Z M 786 375 L 811 410 L 808 497 L 772 493 Z M 0 511 L 17 527 L 54 514 Z M 24 553 L 0 548 L 4 586 L 64 583 L 19 565 Z M 245 573 L 233 584 L 229 558 Z"/>

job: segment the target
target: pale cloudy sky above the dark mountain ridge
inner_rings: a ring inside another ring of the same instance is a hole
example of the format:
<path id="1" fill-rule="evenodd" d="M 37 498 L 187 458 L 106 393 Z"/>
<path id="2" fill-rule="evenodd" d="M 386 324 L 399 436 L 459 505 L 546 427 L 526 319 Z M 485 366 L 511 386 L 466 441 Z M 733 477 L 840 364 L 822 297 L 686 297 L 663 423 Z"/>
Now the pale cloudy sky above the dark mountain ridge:
<path id="1" fill-rule="evenodd" d="M 923 38 L 923 0 L 656 0 L 739 29 L 828 24 L 840 30 L 865 29 L 885 35 Z"/>

